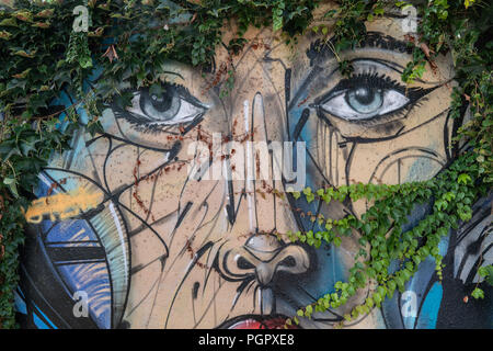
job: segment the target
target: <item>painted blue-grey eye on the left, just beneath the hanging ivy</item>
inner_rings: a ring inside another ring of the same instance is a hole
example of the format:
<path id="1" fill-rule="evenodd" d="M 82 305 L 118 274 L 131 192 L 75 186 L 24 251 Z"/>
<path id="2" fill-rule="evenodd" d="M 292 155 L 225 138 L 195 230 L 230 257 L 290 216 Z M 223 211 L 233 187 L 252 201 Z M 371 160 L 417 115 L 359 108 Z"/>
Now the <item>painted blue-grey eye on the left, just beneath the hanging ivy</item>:
<path id="1" fill-rule="evenodd" d="M 131 106 L 126 107 L 134 120 L 146 125 L 174 125 L 194 121 L 207 105 L 192 97 L 181 86 L 165 84 L 162 89 L 148 88 L 134 93 Z"/>

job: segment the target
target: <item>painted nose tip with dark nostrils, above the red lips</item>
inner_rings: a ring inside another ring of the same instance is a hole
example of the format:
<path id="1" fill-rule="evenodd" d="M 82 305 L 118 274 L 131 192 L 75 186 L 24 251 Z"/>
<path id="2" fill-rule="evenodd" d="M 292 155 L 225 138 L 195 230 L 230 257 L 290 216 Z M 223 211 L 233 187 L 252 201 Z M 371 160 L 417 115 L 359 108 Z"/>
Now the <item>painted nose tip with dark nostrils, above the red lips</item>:
<path id="1" fill-rule="evenodd" d="M 307 251 L 298 245 L 286 245 L 270 234 L 254 235 L 243 247 L 225 253 L 223 270 L 232 276 L 254 278 L 261 287 L 268 286 L 279 272 L 301 274 L 308 271 Z"/>

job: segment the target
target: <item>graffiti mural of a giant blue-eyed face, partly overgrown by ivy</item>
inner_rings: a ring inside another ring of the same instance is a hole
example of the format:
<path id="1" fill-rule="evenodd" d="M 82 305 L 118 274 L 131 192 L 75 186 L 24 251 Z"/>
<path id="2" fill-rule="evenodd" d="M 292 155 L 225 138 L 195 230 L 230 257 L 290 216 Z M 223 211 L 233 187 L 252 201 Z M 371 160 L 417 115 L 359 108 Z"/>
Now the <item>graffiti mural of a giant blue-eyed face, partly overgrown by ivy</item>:
<path id="1" fill-rule="evenodd" d="M 357 233 L 319 249 L 286 233 L 317 229 L 305 213 L 360 216 L 369 204 L 308 204 L 286 191 L 426 180 L 466 147 L 451 144 L 462 123 L 448 115 L 451 57 L 405 87 L 411 50 L 400 20 L 367 30 L 344 53 L 351 77 L 314 34 L 288 47 L 270 29 L 252 29 L 239 55 L 218 47 L 207 73 L 170 61 L 161 84 L 123 86 L 130 105 L 105 105 L 104 132 L 81 127 L 72 150 L 39 174 L 16 291 L 22 325 L 282 328 L 344 281 Z M 214 81 L 228 69 L 236 80 L 225 94 Z M 473 218 L 440 244 L 443 282 L 429 259 L 405 293 L 347 326 L 493 327 L 491 287 L 480 284 L 485 299 L 463 301 L 479 267 L 493 263 L 491 201 L 478 201 Z M 428 211 L 416 206 L 404 229 Z M 333 328 L 367 294 L 299 327 Z"/>

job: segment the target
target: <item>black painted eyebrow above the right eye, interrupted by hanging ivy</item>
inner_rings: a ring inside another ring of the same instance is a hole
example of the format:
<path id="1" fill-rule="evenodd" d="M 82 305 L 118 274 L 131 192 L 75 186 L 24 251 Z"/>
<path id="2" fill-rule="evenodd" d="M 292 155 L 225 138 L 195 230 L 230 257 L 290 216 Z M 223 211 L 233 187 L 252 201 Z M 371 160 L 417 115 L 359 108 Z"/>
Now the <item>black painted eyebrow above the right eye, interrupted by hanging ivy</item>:
<path id="1" fill-rule="evenodd" d="M 310 66 L 314 64 L 321 64 L 326 59 L 334 57 L 334 53 L 331 49 L 333 45 L 333 38 L 325 43 L 324 41 L 317 39 L 311 43 L 310 48 L 307 49 L 307 57 L 310 59 Z M 367 32 L 364 39 L 356 46 L 356 48 L 377 47 L 395 53 L 412 54 L 413 45 L 409 42 L 400 41 L 393 36 L 386 35 L 380 32 Z"/>

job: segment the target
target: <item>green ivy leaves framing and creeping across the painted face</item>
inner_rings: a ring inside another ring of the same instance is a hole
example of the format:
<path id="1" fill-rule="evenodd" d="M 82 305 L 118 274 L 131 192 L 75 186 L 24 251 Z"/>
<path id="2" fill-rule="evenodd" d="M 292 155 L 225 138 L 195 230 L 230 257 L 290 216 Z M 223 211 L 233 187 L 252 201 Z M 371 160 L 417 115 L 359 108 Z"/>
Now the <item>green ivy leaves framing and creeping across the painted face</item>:
<path id="1" fill-rule="evenodd" d="M 12 8 L 0 8 L 0 325 L 15 326 L 13 292 L 19 282 L 19 246 L 23 242 L 25 218 L 23 208 L 34 199 L 37 174 L 53 152 L 70 148 L 70 136 L 79 127 L 76 110 L 85 107 L 90 133 L 101 131 L 98 105 L 118 100 L 128 104 L 131 97 L 118 87 L 152 87 L 163 72 L 163 64 L 177 60 L 204 70 L 214 61 L 215 49 L 222 31 L 234 21 L 237 35 L 228 43 L 231 55 L 239 53 L 246 41 L 243 34 L 250 25 L 272 26 L 287 41 L 303 34 L 313 19 L 319 0 L 19 0 Z M 311 31 L 331 36 L 334 53 L 355 47 L 365 35 L 365 21 L 372 21 L 389 9 L 409 5 L 403 1 L 337 1 L 337 10 L 325 13 L 334 23 Z M 85 5 L 88 31 L 73 31 L 77 5 Z M 438 276 L 442 257 L 440 237 L 460 220 L 471 218 L 471 204 L 490 191 L 493 181 L 492 137 L 492 48 L 491 7 L 484 1 L 431 0 L 416 2 L 417 36 L 410 42 L 413 59 L 402 75 L 404 82 L 422 77 L 426 64 L 433 67 L 437 55 L 451 52 L 456 80 L 452 92 L 452 117 L 461 115 L 469 104 L 472 118 L 457 137 L 467 140 L 469 151 L 460 155 L 447 170 L 421 183 L 402 185 L 354 184 L 312 192 L 307 188 L 293 195 L 307 202 L 316 197 L 325 203 L 374 201 L 360 218 L 314 218 L 325 230 L 289 233 L 291 240 L 314 247 L 322 241 L 339 246 L 342 237 L 360 234 L 360 250 L 349 270 L 347 282 L 328 287 L 317 303 L 298 310 L 288 324 L 310 318 L 314 312 L 344 305 L 348 298 L 370 282 L 376 287 L 365 304 L 353 308 L 346 319 L 367 314 L 380 306 L 395 290 L 403 288 L 421 262 L 433 257 Z M 152 19 L 152 20 L 149 20 Z M 87 81 L 94 67 L 103 71 L 98 88 L 88 90 Z M 348 75 L 352 67 L 340 60 L 340 69 Z M 232 73 L 218 84 L 231 87 Z M 60 93 L 76 98 L 69 109 L 54 110 L 51 102 Z M 227 92 L 226 92 L 227 93 Z M 65 112 L 65 114 L 62 114 Z M 64 115 L 64 118 L 60 116 Z M 416 203 L 434 199 L 433 212 L 412 230 L 402 230 L 406 216 Z M 390 263 L 400 262 L 390 271 Z M 493 280 L 492 267 L 482 267 L 479 274 Z M 477 287 L 471 296 L 483 298 Z"/>

